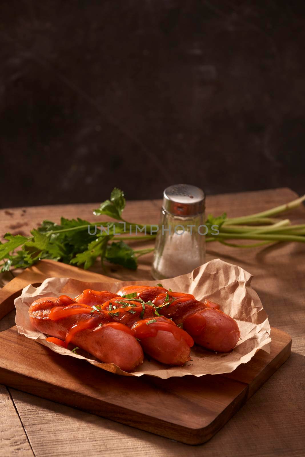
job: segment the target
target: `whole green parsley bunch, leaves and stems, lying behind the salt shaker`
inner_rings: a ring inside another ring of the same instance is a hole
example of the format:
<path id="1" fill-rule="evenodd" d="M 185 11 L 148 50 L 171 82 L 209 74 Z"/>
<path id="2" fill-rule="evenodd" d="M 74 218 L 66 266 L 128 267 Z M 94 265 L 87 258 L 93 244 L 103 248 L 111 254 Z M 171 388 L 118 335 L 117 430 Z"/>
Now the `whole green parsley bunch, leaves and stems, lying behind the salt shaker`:
<path id="1" fill-rule="evenodd" d="M 275 244 L 284 241 L 298 241 L 305 243 L 305 224 L 291 225 L 289 219 L 274 218 L 284 211 L 298 207 L 305 200 L 297 198 L 293 202 L 271 208 L 261 213 L 238 218 L 227 218 L 226 213 L 214 217 L 211 214 L 205 222 L 208 233 L 205 241 L 226 244 L 233 247 L 252 248 L 264 244 Z M 104 260 L 129 268 L 137 269 L 139 256 L 153 251 L 154 248 L 134 250 L 124 243 L 128 240 L 149 240 L 156 235 L 150 235 L 151 226 L 146 225 L 148 234 L 136 236 L 118 236 L 118 234 L 137 233 L 142 224 L 127 222 L 122 218 L 125 208 L 124 193 L 116 187 L 110 194 L 110 199 L 100 204 L 93 211 L 95 216 L 107 215 L 118 222 L 93 222 L 83 219 L 61 218 L 60 224 L 52 221 L 43 221 L 37 229 L 31 230 L 31 236 L 12 235 L 6 233 L 5 243 L 0 242 L 0 271 L 9 271 L 15 268 L 26 268 L 38 260 L 51 259 L 71 265 L 90 268 L 95 260 L 100 258 L 102 267 Z M 219 234 L 215 234 L 217 226 Z M 96 226 L 96 232 L 95 232 Z M 90 228 L 93 228 L 90 234 Z M 92 233 L 91 232 L 91 233 Z M 252 244 L 233 244 L 228 240 L 251 239 Z"/>

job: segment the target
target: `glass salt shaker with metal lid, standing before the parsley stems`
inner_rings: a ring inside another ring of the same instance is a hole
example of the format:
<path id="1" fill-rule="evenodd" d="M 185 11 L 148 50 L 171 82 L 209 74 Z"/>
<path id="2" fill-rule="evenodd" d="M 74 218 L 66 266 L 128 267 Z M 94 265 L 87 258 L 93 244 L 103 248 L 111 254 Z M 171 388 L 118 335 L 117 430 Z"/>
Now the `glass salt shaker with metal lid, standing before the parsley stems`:
<path id="1" fill-rule="evenodd" d="M 205 193 L 177 184 L 163 192 L 161 221 L 156 238 L 154 279 L 184 275 L 205 263 Z"/>

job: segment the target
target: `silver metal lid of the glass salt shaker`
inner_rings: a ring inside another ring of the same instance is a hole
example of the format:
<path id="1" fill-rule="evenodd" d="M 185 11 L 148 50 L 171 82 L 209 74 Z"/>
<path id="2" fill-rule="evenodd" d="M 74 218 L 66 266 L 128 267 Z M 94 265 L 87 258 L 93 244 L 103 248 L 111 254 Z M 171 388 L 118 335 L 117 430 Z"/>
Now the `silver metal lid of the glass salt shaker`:
<path id="1" fill-rule="evenodd" d="M 175 216 L 195 216 L 205 210 L 205 193 L 189 184 L 169 186 L 163 192 L 163 208 Z"/>

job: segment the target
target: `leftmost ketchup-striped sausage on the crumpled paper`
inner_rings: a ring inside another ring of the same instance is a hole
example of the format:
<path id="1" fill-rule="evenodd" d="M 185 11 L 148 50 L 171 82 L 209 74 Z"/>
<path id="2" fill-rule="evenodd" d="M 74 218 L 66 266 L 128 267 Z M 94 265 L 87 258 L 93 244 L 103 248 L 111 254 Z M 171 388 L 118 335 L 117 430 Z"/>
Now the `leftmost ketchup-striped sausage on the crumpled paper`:
<path id="1" fill-rule="evenodd" d="M 47 339 L 67 347 L 68 343 L 88 351 L 104 363 L 115 363 L 131 371 L 143 362 L 136 332 L 114 322 L 108 313 L 98 313 L 72 298 L 39 298 L 29 308 L 33 327 L 52 335 Z"/>

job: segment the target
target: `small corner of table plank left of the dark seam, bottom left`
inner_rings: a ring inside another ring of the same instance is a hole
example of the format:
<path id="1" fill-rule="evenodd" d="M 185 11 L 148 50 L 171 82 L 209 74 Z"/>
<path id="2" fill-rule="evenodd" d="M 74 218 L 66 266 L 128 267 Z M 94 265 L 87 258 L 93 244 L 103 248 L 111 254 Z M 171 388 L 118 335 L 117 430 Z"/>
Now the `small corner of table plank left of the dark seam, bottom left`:
<path id="1" fill-rule="evenodd" d="M 33 457 L 20 417 L 10 393 L 0 385 L 0 456 Z"/>

